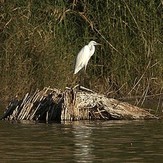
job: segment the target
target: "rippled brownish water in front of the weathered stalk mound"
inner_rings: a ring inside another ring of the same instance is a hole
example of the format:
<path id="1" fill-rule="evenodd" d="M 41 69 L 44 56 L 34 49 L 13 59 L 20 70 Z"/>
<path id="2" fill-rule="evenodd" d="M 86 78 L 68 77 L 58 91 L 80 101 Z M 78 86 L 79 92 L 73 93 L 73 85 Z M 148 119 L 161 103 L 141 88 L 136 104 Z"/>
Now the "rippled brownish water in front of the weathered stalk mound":
<path id="1" fill-rule="evenodd" d="M 163 122 L 0 121 L 0 162 L 163 162 Z"/>

